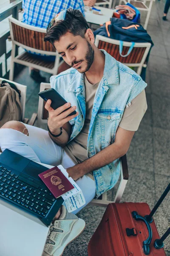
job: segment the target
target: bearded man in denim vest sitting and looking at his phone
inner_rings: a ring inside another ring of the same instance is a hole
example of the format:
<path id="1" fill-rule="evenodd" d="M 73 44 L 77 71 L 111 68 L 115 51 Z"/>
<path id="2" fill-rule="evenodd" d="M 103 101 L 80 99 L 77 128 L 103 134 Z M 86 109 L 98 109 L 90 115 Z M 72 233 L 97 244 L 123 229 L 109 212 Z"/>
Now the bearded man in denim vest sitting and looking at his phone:
<path id="1" fill-rule="evenodd" d="M 37 162 L 62 164 L 88 204 L 119 179 L 120 157 L 127 153 L 147 109 L 147 84 L 94 45 L 94 34 L 78 10 L 68 9 L 55 17 L 44 40 L 50 41 L 71 66 L 51 77 L 51 87 L 68 103 L 53 110 L 51 101 L 46 102 L 49 132 L 17 121 L 7 122 L 0 129 L 0 147 Z M 75 109 L 77 113 L 68 116 Z M 62 206 L 51 224 L 43 255 L 62 255 L 84 226 Z"/>

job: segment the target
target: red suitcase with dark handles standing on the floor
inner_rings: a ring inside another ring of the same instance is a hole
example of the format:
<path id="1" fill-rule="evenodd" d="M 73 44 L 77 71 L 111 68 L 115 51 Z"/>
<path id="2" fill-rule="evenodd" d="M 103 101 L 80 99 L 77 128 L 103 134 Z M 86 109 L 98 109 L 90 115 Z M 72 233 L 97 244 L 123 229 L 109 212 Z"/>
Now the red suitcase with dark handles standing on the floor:
<path id="1" fill-rule="evenodd" d="M 163 241 L 170 228 L 159 239 L 152 216 L 169 190 L 170 184 L 151 213 L 146 203 L 109 204 L 88 244 L 88 256 L 166 256 Z"/>

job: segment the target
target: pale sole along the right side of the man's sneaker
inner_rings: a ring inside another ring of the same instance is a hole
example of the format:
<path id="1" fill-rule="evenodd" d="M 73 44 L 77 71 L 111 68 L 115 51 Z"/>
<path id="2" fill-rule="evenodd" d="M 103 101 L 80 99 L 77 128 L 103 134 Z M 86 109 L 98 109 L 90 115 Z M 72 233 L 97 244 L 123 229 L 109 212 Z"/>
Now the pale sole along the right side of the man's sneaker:
<path id="1" fill-rule="evenodd" d="M 68 236 L 68 239 L 65 241 L 64 244 L 62 244 L 61 247 L 59 247 L 53 253 L 53 256 L 62 256 L 65 250 L 65 247 L 67 247 L 68 244 L 70 244 L 73 240 L 75 240 L 83 232 L 84 229 L 85 229 L 85 221 L 79 218 L 79 220 L 73 225 L 70 235 Z"/>

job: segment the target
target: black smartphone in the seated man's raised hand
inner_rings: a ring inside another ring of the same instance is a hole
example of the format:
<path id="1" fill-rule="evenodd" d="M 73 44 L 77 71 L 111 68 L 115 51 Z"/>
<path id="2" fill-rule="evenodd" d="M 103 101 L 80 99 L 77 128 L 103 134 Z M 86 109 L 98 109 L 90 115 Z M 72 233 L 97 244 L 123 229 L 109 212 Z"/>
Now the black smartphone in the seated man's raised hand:
<path id="1" fill-rule="evenodd" d="M 53 88 L 51 89 L 47 89 L 47 90 L 44 90 L 40 93 L 38 93 L 38 95 L 43 99 L 45 100 L 45 102 L 48 100 L 48 99 L 51 99 L 51 108 L 53 108 L 54 110 L 63 106 L 66 102 L 65 99 L 62 98 L 62 96 L 57 93 L 56 90 L 54 90 Z M 71 107 L 69 107 L 71 108 Z M 64 111 L 68 110 L 69 108 L 65 109 Z M 64 112 L 63 111 L 63 112 Z M 72 116 L 72 115 L 75 115 L 77 112 L 74 110 L 72 113 L 70 113 L 68 116 Z"/>

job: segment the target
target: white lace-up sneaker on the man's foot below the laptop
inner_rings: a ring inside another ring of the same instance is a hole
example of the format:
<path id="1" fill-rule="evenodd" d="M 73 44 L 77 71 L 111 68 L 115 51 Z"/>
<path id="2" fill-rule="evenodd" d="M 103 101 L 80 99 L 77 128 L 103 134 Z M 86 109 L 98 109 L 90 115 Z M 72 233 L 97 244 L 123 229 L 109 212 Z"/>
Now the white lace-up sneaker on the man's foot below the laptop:
<path id="1" fill-rule="evenodd" d="M 62 205 L 62 214 L 51 224 L 42 256 L 61 256 L 65 247 L 85 229 L 85 221 L 69 213 Z"/>

